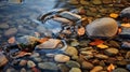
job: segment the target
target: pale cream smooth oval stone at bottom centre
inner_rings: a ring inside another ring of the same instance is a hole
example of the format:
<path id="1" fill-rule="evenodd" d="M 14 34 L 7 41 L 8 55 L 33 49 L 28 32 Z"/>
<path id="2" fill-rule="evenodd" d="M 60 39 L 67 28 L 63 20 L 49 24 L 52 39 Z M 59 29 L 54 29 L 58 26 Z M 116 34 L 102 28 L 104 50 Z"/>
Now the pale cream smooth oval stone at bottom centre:
<path id="1" fill-rule="evenodd" d="M 66 61 L 69 61 L 70 58 L 66 55 L 57 54 L 57 55 L 54 56 L 54 60 L 57 61 L 57 62 L 66 62 Z"/>

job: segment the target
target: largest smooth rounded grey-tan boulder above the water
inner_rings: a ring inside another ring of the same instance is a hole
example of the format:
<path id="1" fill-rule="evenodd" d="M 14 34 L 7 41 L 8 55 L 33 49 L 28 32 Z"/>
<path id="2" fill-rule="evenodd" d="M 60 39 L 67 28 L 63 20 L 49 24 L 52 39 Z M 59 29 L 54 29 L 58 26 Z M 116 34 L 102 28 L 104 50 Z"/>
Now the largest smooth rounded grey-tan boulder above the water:
<path id="1" fill-rule="evenodd" d="M 86 29 L 89 37 L 114 37 L 117 33 L 118 25 L 115 19 L 104 17 L 95 19 Z"/>

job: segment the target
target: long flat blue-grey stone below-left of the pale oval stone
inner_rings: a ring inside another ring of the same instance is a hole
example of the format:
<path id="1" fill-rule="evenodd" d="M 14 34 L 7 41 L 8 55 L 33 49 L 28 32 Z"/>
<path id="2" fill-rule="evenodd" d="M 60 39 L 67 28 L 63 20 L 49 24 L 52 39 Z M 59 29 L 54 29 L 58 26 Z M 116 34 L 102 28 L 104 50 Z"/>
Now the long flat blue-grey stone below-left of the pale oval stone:
<path id="1" fill-rule="evenodd" d="M 39 62 L 38 67 L 46 70 L 58 70 L 56 63 L 54 62 Z"/>

